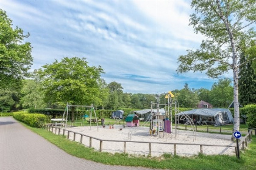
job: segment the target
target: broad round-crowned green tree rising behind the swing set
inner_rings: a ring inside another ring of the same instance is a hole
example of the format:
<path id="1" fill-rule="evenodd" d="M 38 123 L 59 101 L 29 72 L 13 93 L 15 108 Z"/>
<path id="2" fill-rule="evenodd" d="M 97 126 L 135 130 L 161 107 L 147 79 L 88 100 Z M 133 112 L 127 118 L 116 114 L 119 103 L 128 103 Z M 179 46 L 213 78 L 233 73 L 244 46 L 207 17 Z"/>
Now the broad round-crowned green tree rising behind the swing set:
<path id="1" fill-rule="evenodd" d="M 88 66 L 85 58 L 64 57 L 60 62 L 55 60 L 52 64 L 44 65 L 38 73 L 42 78 L 45 101 L 77 105 L 99 101 L 99 82 L 103 70 L 101 66 Z"/>

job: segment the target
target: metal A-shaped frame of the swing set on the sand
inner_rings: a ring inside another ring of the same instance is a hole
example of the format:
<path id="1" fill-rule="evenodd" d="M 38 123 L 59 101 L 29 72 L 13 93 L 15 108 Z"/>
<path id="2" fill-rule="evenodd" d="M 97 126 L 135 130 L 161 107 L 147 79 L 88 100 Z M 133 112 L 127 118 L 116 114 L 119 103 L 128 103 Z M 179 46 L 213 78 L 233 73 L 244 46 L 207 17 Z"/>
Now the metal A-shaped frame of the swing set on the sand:
<path id="1" fill-rule="evenodd" d="M 99 127 L 98 127 L 98 118 L 96 117 L 96 112 L 94 110 L 93 104 L 91 104 L 91 106 L 79 106 L 79 105 L 69 105 L 69 103 L 66 104 L 66 108 L 65 111 L 63 113 L 62 116 L 62 123 L 61 123 L 61 127 L 64 127 L 66 129 L 66 124 L 68 121 L 68 116 L 70 117 L 70 110 L 72 110 L 72 107 L 76 107 L 78 109 L 78 107 L 84 107 L 84 108 L 88 108 L 90 110 L 90 129 L 91 129 L 91 122 L 96 120 L 95 123 L 97 124 L 97 130 L 99 131 Z M 94 114 L 95 118 L 92 118 L 92 115 Z M 70 119 L 70 118 L 69 118 Z"/>

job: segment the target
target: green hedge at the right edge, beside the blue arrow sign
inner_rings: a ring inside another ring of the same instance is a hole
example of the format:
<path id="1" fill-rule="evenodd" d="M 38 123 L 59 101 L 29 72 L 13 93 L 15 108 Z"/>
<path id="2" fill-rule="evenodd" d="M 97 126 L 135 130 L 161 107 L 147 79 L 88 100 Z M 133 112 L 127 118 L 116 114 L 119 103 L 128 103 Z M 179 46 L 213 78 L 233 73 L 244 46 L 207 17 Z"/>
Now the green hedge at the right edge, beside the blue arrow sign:
<path id="1" fill-rule="evenodd" d="M 243 107 L 245 115 L 247 115 L 247 121 L 249 127 L 256 127 L 256 104 L 249 104 Z"/>

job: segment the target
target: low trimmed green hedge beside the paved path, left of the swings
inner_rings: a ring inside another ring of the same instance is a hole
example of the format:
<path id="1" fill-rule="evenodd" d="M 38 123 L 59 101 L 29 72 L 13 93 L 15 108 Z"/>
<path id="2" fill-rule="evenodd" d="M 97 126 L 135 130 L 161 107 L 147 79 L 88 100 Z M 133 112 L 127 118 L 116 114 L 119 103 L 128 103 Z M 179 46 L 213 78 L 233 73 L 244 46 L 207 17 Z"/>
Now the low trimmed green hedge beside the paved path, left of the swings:
<path id="1" fill-rule="evenodd" d="M 43 114 L 28 114 L 27 112 L 13 112 L 16 120 L 22 121 L 31 127 L 42 127 L 49 123 L 49 117 Z"/>

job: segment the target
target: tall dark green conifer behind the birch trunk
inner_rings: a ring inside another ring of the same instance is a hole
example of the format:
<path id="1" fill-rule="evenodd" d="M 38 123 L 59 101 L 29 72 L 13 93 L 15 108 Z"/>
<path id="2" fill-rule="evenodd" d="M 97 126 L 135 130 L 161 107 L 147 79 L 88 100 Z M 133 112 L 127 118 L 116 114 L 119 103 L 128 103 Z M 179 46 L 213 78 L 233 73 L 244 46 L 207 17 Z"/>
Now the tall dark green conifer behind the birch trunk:
<path id="1" fill-rule="evenodd" d="M 240 63 L 244 63 L 249 56 L 242 53 Z M 256 73 L 252 68 L 252 61 L 244 64 L 239 69 L 239 101 L 243 106 L 256 104 Z"/>

